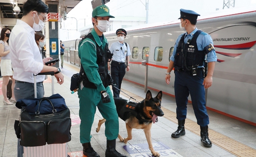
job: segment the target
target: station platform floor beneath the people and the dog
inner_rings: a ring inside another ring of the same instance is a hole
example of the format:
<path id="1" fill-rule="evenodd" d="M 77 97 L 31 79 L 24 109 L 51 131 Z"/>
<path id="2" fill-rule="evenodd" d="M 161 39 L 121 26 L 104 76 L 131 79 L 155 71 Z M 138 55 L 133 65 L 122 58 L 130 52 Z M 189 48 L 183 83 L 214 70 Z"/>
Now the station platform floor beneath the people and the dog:
<path id="1" fill-rule="evenodd" d="M 71 157 L 85 157 L 82 155 L 82 145 L 79 141 L 79 98 L 77 92 L 70 93 L 70 78 L 77 73 L 79 67 L 64 63 L 62 73 L 64 83 L 57 84 L 55 79 L 55 93 L 65 98 L 70 108 L 72 127 L 72 140 L 68 142 L 68 154 Z M 2 83 L 0 78 L 0 87 Z M 45 96 L 51 95 L 51 77 L 44 81 Z M 122 91 L 138 101 L 145 98 L 144 87 L 123 81 Z M 153 96 L 157 91 L 151 90 Z M 1 92 L 0 92 L 1 93 Z M 128 99 L 126 94 L 121 93 L 122 98 Z M 0 157 L 17 157 L 17 138 L 14 131 L 14 121 L 18 119 L 20 109 L 14 105 L 3 105 L 3 96 L 0 95 Z M 163 117 L 158 117 L 158 122 L 153 124 L 151 137 L 154 149 L 161 157 L 256 157 L 256 126 L 234 120 L 208 111 L 210 117 L 209 138 L 213 142 L 211 148 L 205 148 L 200 141 L 200 128 L 197 125 L 192 105 L 188 105 L 187 119 L 185 122 L 186 135 L 180 138 L 172 138 L 172 132 L 177 129 L 176 103 L 173 97 L 163 95 L 162 109 Z M 106 137 L 104 125 L 97 133 L 98 120 L 102 119 L 97 110 L 95 121 L 92 126 L 93 148 L 100 157 L 105 157 Z M 125 122 L 119 119 L 119 133 L 127 137 Z M 127 144 L 117 139 L 116 149 L 127 157 L 151 157 L 143 130 L 133 129 L 133 139 Z"/>

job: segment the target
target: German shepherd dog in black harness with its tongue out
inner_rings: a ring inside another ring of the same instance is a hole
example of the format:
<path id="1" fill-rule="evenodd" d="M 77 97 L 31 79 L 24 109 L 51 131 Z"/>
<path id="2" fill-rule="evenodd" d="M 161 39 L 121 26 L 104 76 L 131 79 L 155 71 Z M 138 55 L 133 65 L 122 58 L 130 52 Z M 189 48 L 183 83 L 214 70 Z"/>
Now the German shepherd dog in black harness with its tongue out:
<path id="1" fill-rule="evenodd" d="M 162 91 L 159 91 L 158 95 L 153 98 L 150 90 L 147 91 L 146 98 L 138 104 L 134 102 L 127 103 L 125 99 L 114 98 L 118 116 L 125 121 L 128 134 L 125 139 L 118 134 L 118 139 L 126 144 L 128 140 L 132 140 L 133 128 L 143 129 L 151 153 L 155 157 L 159 157 L 160 154 L 154 150 L 152 145 L 150 129 L 152 122 L 158 122 L 158 116 L 164 115 L 161 110 L 161 99 Z M 106 122 L 105 119 L 99 120 L 96 132 L 99 131 L 101 124 L 104 122 Z"/>

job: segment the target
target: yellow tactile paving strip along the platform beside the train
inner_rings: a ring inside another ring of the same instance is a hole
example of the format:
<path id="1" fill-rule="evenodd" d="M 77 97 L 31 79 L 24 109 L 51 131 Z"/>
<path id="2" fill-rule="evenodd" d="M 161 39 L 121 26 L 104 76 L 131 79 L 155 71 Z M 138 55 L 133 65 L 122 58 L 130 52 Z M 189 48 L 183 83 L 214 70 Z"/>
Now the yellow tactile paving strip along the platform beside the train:
<path id="1" fill-rule="evenodd" d="M 144 98 L 141 98 L 134 93 L 131 93 L 125 89 L 121 89 L 123 92 L 128 94 L 129 96 L 135 98 L 138 101 L 142 101 Z M 125 95 L 125 94 L 123 94 Z M 177 123 L 176 119 L 176 113 L 172 112 L 164 107 L 162 107 L 162 110 L 164 112 L 164 118 Z M 185 122 L 185 128 L 196 135 L 200 136 L 200 128 L 197 124 L 197 122 L 194 122 L 192 120 L 186 119 Z M 256 150 L 242 144 L 236 140 L 233 140 L 225 135 L 222 135 L 212 129 L 209 129 L 209 138 L 212 141 L 212 143 L 216 144 L 217 146 L 227 150 L 228 152 L 236 155 L 237 157 L 256 157 Z"/>

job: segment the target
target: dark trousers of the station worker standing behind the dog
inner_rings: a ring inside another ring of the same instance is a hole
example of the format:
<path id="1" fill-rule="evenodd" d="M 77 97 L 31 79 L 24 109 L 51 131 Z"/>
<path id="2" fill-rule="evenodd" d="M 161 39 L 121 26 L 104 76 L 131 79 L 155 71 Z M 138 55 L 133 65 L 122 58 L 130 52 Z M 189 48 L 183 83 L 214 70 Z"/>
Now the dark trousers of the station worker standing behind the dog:
<path id="1" fill-rule="evenodd" d="M 116 84 L 116 87 L 118 89 L 121 89 L 121 84 L 123 77 L 125 75 L 125 64 L 124 63 L 118 63 L 116 61 L 111 62 L 111 77 Z M 119 98 L 120 90 L 118 90 L 112 85 L 113 90 L 113 97 Z"/>

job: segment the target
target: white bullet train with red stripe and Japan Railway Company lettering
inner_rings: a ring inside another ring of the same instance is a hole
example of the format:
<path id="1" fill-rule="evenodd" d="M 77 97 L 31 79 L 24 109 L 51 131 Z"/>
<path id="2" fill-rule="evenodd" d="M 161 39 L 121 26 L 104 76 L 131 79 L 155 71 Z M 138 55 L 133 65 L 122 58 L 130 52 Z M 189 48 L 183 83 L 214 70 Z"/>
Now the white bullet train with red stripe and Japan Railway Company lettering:
<path id="1" fill-rule="evenodd" d="M 126 80 L 144 85 L 145 66 L 141 62 L 149 54 L 148 88 L 175 95 L 174 71 L 170 85 L 165 83 L 165 72 L 177 36 L 184 33 L 179 22 L 126 29 L 125 42 L 132 53 Z M 213 85 L 207 91 L 208 109 L 256 126 L 256 9 L 198 17 L 197 28 L 212 36 L 217 53 Z M 115 31 L 104 35 L 109 45 L 117 41 Z M 63 43 L 77 49 L 79 40 Z"/>

